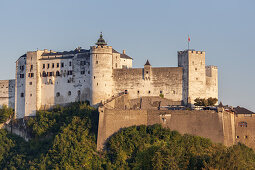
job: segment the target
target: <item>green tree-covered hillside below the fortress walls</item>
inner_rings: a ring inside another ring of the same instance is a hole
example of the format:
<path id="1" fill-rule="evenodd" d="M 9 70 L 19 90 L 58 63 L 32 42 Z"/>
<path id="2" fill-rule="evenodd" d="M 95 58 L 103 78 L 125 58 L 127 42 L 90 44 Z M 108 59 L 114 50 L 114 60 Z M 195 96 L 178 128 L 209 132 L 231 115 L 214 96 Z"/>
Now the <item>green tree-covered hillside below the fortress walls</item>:
<path id="1" fill-rule="evenodd" d="M 0 112 L 1 113 L 1 112 Z M 132 126 L 96 151 L 98 112 L 86 103 L 40 111 L 27 121 L 32 140 L 0 130 L 0 169 L 254 169 L 245 145 L 225 147 L 160 125 Z"/>

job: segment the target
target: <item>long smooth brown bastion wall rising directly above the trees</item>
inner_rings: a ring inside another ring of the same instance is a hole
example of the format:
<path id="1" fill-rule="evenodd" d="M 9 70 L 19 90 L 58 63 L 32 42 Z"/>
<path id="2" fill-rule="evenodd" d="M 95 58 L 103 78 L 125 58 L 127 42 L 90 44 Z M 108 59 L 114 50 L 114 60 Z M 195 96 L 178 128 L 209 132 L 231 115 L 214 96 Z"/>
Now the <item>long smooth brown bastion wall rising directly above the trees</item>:
<path id="1" fill-rule="evenodd" d="M 198 135 L 227 146 L 234 144 L 233 114 L 216 111 L 128 110 L 99 108 L 97 148 L 121 128 L 133 125 L 162 126 L 181 134 Z"/>

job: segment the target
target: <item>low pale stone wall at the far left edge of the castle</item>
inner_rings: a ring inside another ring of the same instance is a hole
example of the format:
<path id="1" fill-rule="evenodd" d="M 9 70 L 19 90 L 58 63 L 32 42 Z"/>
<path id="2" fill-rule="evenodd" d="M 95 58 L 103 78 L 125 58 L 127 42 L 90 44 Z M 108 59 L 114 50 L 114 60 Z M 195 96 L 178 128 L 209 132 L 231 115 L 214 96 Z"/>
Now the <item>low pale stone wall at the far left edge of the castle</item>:
<path id="1" fill-rule="evenodd" d="M 0 80 L 0 107 L 15 108 L 15 80 Z"/>

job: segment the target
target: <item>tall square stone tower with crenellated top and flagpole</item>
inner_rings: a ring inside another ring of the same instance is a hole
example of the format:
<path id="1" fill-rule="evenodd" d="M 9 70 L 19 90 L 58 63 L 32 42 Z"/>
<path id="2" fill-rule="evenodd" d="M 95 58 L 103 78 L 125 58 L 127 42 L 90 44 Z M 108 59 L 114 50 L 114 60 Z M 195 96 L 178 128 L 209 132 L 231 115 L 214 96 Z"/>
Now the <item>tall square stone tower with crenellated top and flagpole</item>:
<path id="1" fill-rule="evenodd" d="M 195 50 L 178 51 L 178 66 L 183 67 L 184 104 L 194 104 L 196 98 L 205 98 L 205 52 Z"/>

